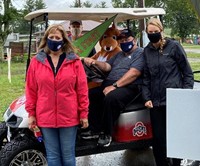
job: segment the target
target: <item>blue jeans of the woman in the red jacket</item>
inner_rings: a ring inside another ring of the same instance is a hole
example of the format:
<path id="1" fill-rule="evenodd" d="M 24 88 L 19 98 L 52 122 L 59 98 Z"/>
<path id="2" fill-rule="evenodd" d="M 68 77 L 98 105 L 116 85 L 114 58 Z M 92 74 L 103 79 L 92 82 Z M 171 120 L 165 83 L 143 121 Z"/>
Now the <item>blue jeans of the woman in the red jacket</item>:
<path id="1" fill-rule="evenodd" d="M 41 128 L 48 166 L 75 166 L 77 126 Z"/>

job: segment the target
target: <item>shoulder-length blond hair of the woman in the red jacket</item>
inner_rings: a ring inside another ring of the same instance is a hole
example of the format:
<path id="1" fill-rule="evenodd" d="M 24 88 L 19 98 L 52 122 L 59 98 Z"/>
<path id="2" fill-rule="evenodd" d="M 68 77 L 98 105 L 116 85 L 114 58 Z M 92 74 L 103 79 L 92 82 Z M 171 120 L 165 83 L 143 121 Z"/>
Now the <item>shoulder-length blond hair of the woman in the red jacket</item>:
<path id="1" fill-rule="evenodd" d="M 63 37 L 64 45 L 62 47 L 62 51 L 66 53 L 74 52 L 75 48 L 73 44 L 70 42 L 70 40 L 68 39 L 67 33 L 61 24 L 53 24 L 47 28 L 40 42 L 39 49 L 44 49 L 46 53 L 50 53 L 50 49 L 47 46 L 47 38 L 49 34 L 55 33 L 56 31 L 59 31 Z"/>

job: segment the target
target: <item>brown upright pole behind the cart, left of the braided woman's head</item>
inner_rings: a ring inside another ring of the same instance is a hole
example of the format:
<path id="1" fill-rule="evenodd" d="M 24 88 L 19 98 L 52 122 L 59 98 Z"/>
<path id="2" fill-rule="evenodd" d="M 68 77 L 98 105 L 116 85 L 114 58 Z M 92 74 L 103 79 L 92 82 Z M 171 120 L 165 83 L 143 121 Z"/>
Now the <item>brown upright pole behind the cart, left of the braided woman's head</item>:
<path id="1" fill-rule="evenodd" d="M 145 0 L 138 0 L 138 7 L 145 7 Z M 143 33 L 142 31 L 145 29 L 145 19 L 139 20 L 139 31 L 140 31 L 140 47 L 143 47 Z"/>

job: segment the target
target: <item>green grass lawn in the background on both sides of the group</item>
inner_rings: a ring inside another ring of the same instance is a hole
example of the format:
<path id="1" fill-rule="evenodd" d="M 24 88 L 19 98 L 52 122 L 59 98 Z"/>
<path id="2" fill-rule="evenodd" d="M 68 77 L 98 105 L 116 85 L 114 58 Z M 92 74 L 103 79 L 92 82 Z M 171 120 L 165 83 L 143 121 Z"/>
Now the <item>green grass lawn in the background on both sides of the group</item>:
<path id="1" fill-rule="evenodd" d="M 198 48 L 200 46 L 185 45 L 187 48 Z M 200 54 L 188 53 L 189 58 L 198 58 L 198 61 L 191 61 L 191 67 L 193 71 L 200 70 Z M 25 71 L 26 62 L 12 62 L 11 63 L 11 78 L 12 82 L 9 83 L 7 76 L 7 62 L 0 62 L 0 121 L 2 121 L 2 115 L 9 104 L 19 96 L 24 94 L 25 88 Z M 200 80 L 200 74 L 195 75 L 196 80 Z"/>

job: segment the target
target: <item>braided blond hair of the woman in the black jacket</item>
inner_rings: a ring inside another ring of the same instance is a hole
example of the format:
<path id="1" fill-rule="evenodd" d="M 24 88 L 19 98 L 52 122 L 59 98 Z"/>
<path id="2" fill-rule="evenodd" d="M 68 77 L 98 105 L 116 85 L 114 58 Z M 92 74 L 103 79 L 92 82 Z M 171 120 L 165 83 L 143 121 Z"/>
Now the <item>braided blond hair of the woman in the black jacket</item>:
<path id="1" fill-rule="evenodd" d="M 151 18 L 148 20 L 147 22 L 147 26 L 146 26 L 146 32 L 147 32 L 147 29 L 148 29 L 148 26 L 149 25 L 154 25 L 156 27 L 158 27 L 160 29 L 160 32 L 163 32 L 164 31 L 164 28 L 163 28 L 163 25 L 161 23 L 161 21 L 157 18 Z M 148 32 L 147 32 L 148 33 Z M 161 33 L 161 41 L 160 41 L 160 53 L 162 54 L 163 53 L 163 47 L 166 43 L 166 40 L 164 39 L 164 35 L 163 33 Z"/>

